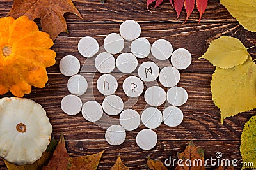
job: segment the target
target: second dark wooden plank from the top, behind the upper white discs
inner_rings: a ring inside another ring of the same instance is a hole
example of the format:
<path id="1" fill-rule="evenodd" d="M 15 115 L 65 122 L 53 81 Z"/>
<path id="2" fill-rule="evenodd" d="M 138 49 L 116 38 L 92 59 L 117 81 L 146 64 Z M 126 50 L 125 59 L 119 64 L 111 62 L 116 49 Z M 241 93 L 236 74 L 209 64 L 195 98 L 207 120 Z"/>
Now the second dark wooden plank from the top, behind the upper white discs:
<path id="1" fill-rule="evenodd" d="M 102 46 L 106 35 L 111 32 L 118 32 L 119 26 L 120 24 L 70 24 L 70 36 L 62 33 L 55 41 L 53 49 L 57 52 L 56 65 L 50 67 L 48 71 L 50 73 L 59 73 L 58 64 L 65 55 L 75 55 L 82 65 L 86 59 L 77 50 L 79 39 L 83 36 L 93 36 Z M 156 39 L 166 39 L 172 43 L 174 49 L 187 48 L 191 52 L 193 56 L 192 64 L 182 72 L 214 71 L 214 67 L 207 60 L 198 60 L 198 57 L 204 55 L 212 40 L 222 35 L 239 38 L 246 47 L 253 46 L 256 43 L 254 34 L 246 31 L 236 23 L 207 23 L 200 26 L 188 23 L 186 27 L 182 27 L 180 24 L 141 24 L 141 28 L 141 36 L 148 38 L 150 43 L 154 43 Z M 253 58 L 256 56 L 254 49 L 249 52 Z M 115 57 L 117 56 L 115 55 Z M 145 60 L 147 59 L 138 59 L 140 63 Z M 93 61 L 86 62 L 86 65 L 93 67 L 94 63 Z"/>

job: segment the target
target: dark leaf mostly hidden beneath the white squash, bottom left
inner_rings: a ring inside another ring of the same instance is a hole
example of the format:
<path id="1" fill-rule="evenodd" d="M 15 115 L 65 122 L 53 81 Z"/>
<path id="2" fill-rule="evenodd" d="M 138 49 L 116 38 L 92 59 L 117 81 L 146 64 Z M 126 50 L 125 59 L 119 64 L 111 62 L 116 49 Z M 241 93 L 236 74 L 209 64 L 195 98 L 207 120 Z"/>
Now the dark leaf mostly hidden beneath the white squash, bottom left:
<path id="1" fill-rule="evenodd" d="M 47 164 L 47 162 L 51 158 L 52 153 L 56 148 L 56 145 L 57 145 L 57 141 L 54 138 L 52 138 L 50 144 L 47 146 L 46 151 L 42 153 L 42 157 L 30 165 L 17 166 L 15 164 L 11 164 L 7 162 L 4 159 L 3 160 L 8 170 L 40 170 L 45 164 Z"/>

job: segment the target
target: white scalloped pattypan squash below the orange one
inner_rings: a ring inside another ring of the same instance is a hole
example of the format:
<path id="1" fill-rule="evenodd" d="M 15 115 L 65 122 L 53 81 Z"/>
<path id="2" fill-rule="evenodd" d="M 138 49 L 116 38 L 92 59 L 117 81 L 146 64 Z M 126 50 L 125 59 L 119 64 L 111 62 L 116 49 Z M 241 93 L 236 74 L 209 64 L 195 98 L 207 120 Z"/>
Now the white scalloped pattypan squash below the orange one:
<path id="1" fill-rule="evenodd" d="M 0 99 L 0 157 L 17 165 L 32 164 L 46 150 L 51 133 L 40 104 L 17 97 Z"/>

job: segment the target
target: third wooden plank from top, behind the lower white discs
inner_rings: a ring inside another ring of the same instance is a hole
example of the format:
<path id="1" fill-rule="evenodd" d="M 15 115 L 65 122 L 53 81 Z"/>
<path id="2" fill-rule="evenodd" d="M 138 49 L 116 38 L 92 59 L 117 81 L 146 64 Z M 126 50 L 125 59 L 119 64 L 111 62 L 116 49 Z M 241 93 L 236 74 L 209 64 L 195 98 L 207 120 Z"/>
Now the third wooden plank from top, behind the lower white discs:
<path id="1" fill-rule="evenodd" d="M 97 78 L 101 75 L 99 73 L 86 73 L 83 74 L 89 82 L 88 92 L 84 94 L 81 99 L 83 102 L 95 99 L 102 103 L 104 96 L 99 94 L 95 89 Z M 120 77 L 120 74 L 113 73 L 114 76 Z M 249 111 L 248 113 L 241 113 L 236 117 L 227 118 L 225 124 L 220 124 L 220 111 L 211 99 L 210 80 L 211 73 L 181 73 L 181 80 L 178 84 L 180 87 L 184 87 L 188 91 L 188 101 L 186 104 L 180 107 L 184 112 L 184 121 L 178 127 L 167 127 L 162 124 L 156 129 L 160 140 L 172 139 L 193 139 L 193 140 L 239 140 L 243 125 L 255 114 L 255 111 Z M 116 91 L 116 94 L 124 101 L 128 98 L 122 91 L 123 76 L 118 80 L 120 88 Z M 93 90 L 92 90 L 93 80 Z M 61 99 L 69 94 L 67 90 L 68 78 L 61 74 L 49 74 L 49 83 L 44 89 L 33 89 L 33 92 L 24 97 L 33 99 L 36 102 L 42 104 L 48 113 L 51 124 L 54 127 L 54 135 L 58 136 L 60 132 L 64 132 L 67 140 L 99 140 L 104 141 L 104 128 L 108 128 L 112 124 L 118 124 L 118 116 L 113 118 L 104 117 L 98 125 L 92 122 L 84 120 L 80 114 L 75 116 L 68 116 L 61 111 L 60 102 Z M 164 88 L 166 90 L 166 88 Z M 93 96 L 94 94 L 94 96 Z M 6 95 L 10 96 L 10 94 Z M 132 103 L 132 101 L 131 101 Z M 125 103 L 125 108 L 129 108 L 131 104 Z M 166 105 L 168 106 L 168 104 Z M 139 113 L 143 108 L 148 107 L 143 99 L 143 94 L 139 97 L 136 105 L 132 106 L 134 110 Z M 164 109 L 164 104 L 159 106 L 159 110 Z M 136 134 L 145 128 L 141 126 L 136 131 L 127 132 L 127 140 L 135 140 Z"/>

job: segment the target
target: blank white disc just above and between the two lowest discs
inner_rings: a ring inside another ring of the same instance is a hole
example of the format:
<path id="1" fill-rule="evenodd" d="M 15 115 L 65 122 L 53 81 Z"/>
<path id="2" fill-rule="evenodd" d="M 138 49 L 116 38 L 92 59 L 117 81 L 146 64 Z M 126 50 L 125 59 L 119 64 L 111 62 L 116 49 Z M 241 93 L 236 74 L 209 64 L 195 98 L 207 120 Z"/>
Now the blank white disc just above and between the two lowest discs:
<path id="1" fill-rule="evenodd" d="M 136 110 L 127 109 L 122 111 L 119 122 L 127 131 L 137 129 L 140 125 L 140 115 Z"/>

